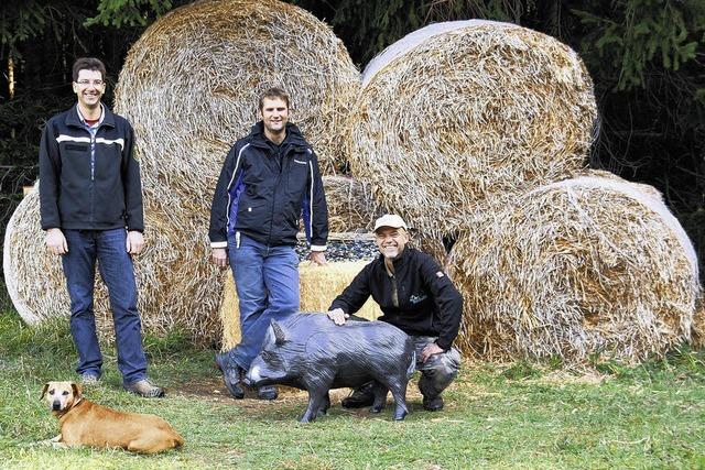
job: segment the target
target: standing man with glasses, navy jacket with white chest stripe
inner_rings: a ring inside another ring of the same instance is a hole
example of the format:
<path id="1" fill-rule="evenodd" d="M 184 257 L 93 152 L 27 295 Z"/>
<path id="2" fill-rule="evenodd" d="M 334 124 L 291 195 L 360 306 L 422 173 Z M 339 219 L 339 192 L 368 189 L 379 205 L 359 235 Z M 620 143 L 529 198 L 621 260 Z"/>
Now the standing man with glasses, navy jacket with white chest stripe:
<path id="1" fill-rule="evenodd" d="M 96 261 L 108 287 L 118 368 L 123 387 L 163 396 L 147 376 L 132 255 L 144 245 L 140 168 L 132 155 L 130 123 L 100 101 L 106 67 L 78 58 L 73 90 L 78 102 L 48 120 L 40 145 L 40 204 L 46 248 L 61 255 L 70 297 L 70 331 L 78 350 L 76 372 L 98 382 L 102 356 L 96 334 Z"/>

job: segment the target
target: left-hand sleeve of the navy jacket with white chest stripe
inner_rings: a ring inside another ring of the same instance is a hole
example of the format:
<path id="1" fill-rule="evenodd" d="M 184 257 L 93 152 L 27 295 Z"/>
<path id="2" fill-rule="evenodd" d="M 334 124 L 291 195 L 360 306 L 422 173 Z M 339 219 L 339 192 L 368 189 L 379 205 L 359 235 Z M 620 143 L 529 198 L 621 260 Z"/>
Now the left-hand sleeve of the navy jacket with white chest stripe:
<path id="1" fill-rule="evenodd" d="M 42 141 L 40 143 L 40 214 L 42 230 L 62 227 L 58 214 L 62 161 L 53 129 L 53 122 L 48 121 L 42 131 Z"/>

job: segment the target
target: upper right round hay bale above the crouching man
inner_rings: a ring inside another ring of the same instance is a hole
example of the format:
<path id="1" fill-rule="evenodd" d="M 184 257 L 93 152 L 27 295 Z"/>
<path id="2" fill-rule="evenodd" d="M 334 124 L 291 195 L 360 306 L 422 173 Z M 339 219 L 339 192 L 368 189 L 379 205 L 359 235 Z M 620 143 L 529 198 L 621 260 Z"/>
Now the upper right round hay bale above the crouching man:
<path id="1" fill-rule="evenodd" d="M 573 176 L 596 119 L 577 54 L 513 24 L 426 26 L 366 68 L 347 133 L 352 172 L 421 232 L 488 199 Z"/>

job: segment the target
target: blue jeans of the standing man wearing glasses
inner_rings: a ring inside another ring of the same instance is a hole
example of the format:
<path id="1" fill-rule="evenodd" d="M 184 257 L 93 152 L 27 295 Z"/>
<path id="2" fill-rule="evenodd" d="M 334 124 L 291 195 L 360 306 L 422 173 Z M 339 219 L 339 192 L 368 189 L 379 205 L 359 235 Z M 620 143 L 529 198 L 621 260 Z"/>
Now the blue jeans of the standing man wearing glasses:
<path id="1" fill-rule="evenodd" d="M 132 258 L 126 248 L 126 230 L 64 230 L 64 236 L 68 252 L 62 256 L 62 264 L 70 297 L 70 332 L 78 350 L 76 372 L 100 376 L 102 365 L 93 306 L 97 260 L 100 277 L 108 286 L 122 382 L 129 384 L 147 378 L 137 284 Z"/>

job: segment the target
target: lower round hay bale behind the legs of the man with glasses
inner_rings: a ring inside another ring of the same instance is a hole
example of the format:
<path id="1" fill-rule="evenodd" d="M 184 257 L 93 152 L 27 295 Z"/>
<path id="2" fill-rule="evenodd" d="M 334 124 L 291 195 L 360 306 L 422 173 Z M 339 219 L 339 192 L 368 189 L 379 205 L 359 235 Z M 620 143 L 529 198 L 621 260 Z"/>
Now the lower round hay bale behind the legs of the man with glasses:
<path id="1" fill-rule="evenodd" d="M 220 336 L 217 308 L 221 280 L 208 262 L 205 233 L 182 240 L 181 231 L 197 228 L 180 219 L 153 198 L 145 198 L 145 248 L 134 256 L 138 308 L 144 331 L 163 334 L 181 328 L 198 342 Z M 18 206 L 6 232 L 3 266 L 10 298 L 28 324 L 70 315 L 70 300 L 61 258 L 45 249 L 40 225 L 39 190 Z M 69 248 L 70 249 L 70 248 Z M 207 282 L 203 282 L 206 280 Z M 213 314 L 209 314 L 213 311 Z M 107 288 L 96 274 L 95 314 L 102 336 L 112 337 Z"/>

